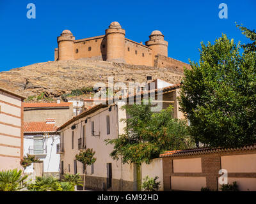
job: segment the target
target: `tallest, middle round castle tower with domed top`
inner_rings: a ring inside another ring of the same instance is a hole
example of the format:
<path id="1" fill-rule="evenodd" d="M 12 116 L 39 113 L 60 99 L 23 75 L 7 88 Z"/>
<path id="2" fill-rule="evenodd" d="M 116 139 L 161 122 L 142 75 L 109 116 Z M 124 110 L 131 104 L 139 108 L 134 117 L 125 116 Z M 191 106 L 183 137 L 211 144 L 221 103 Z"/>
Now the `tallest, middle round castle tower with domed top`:
<path id="1" fill-rule="evenodd" d="M 106 29 L 107 61 L 125 62 L 125 30 L 118 22 L 112 22 Z"/>

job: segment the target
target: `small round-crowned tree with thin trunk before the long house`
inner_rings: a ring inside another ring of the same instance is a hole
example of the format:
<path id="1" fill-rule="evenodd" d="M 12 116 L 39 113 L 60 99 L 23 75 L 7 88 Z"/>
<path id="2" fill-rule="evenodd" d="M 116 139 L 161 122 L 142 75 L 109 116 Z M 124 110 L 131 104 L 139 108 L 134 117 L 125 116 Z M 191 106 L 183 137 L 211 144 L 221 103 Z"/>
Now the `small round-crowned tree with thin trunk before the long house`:
<path id="1" fill-rule="evenodd" d="M 85 183 L 85 174 L 86 174 L 86 165 L 92 165 L 95 163 L 96 158 L 93 157 L 95 154 L 95 151 L 93 149 L 85 149 L 80 150 L 79 154 L 76 155 L 76 160 L 81 162 L 84 165 L 84 183 Z M 84 186 L 83 186 L 84 189 Z"/>

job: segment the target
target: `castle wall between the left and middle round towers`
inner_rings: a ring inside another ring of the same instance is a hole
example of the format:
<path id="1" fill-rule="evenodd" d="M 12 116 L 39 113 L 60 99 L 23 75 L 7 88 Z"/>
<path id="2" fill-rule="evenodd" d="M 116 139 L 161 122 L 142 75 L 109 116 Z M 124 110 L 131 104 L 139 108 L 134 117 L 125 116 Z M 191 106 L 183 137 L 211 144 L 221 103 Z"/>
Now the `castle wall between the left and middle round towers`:
<path id="1" fill-rule="evenodd" d="M 106 60 L 106 38 L 95 36 L 74 41 L 74 59 L 93 58 Z"/>

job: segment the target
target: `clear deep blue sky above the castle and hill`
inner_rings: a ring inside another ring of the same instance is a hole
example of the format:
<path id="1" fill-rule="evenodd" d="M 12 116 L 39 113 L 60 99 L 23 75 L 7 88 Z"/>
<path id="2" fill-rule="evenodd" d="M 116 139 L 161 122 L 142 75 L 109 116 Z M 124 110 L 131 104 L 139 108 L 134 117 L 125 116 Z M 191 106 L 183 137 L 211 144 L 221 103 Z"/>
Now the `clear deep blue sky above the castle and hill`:
<path id="1" fill-rule="evenodd" d="M 26 17 L 28 3 L 36 5 L 35 19 Z M 227 19 L 218 17 L 220 3 L 228 6 Z M 54 61 L 61 31 L 87 38 L 104 34 L 113 21 L 126 30 L 126 38 L 143 43 L 159 30 L 169 43 L 170 57 L 198 61 L 201 41 L 214 41 L 221 33 L 246 41 L 235 22 L 256 29 L 256 1 L 0 0 L 0 71 Z"/>

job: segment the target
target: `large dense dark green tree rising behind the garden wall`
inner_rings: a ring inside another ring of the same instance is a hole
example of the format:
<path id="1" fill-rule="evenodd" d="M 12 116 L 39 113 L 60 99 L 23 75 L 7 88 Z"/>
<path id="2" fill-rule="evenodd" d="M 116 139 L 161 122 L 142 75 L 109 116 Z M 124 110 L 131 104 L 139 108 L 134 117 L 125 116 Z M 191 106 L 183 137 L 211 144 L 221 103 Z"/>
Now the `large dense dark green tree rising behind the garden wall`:
<path id="1" fill-rule="evenodd" d="M 190 134 L 209 147 L 256 142 L 256 53 L 241 52 L 225 34 L 201 44 L 199 64 L 190 61 L 180 93 L 180 110 Z"/>

